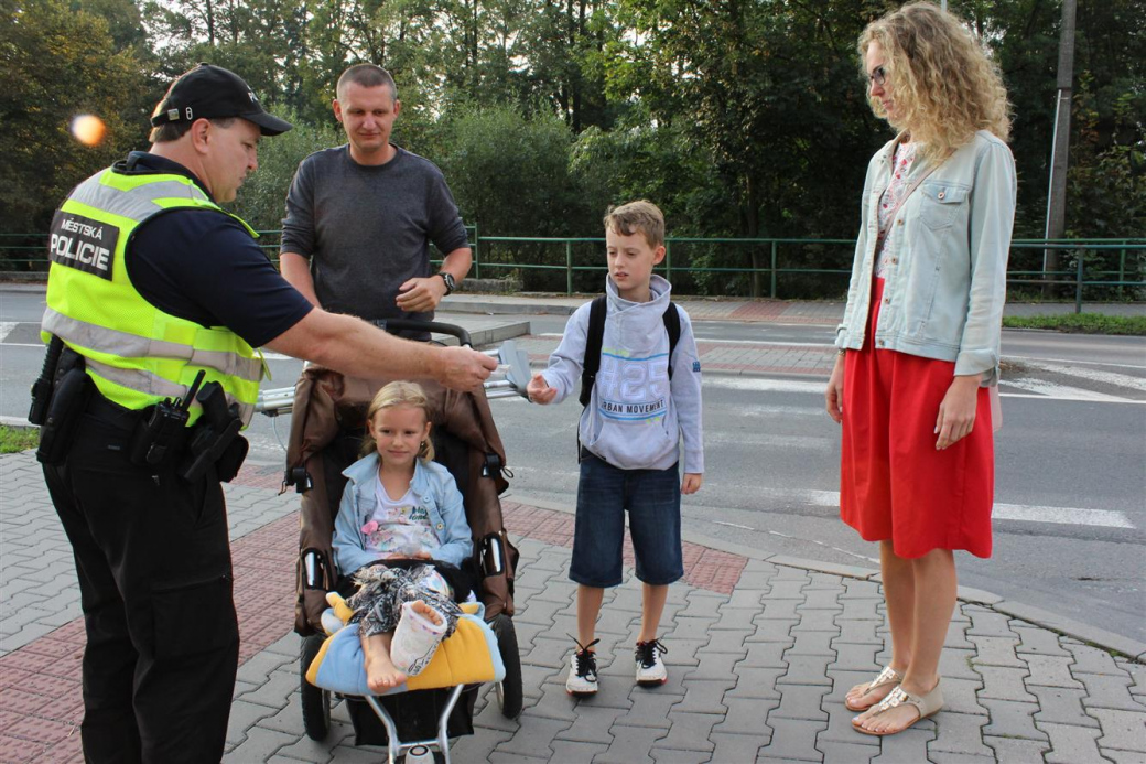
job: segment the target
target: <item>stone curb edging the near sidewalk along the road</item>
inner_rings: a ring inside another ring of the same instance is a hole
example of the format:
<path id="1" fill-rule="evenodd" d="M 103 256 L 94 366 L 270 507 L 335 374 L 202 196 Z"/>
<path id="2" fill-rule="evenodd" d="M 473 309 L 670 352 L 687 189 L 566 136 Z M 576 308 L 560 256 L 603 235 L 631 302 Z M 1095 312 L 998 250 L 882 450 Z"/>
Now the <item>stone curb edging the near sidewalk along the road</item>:
<path id="1" fill-rule="evenodd" d="M 542 509 L 576 514 L 576 509 L 566 504 L 540 499 L 528 494 L 515 494 L 510 491 L 503 498 L 512 498 L 513 501 L 519 504 L 540 507 Z M 626 525 L 627 524 L 628 519 L 626 517 Z M 881 580 L 880 572 L 870 568 L 842 566 L 831 562 L 822 562 L 819 560 L 809 560 L 807 558 L 794 558 L 785 554 L 766 554 L 760 552 L 760 549 L 755 549 L 743 544 L 711 538 L 696 531 L 682 531 L 681 538 L 691 544 L 707 546 L 720 552 L 737 554 L 751 560 L 784 566 L 785 568 L 799 568 L 801 570 L 810 570 L 846 578 L 857 578 L 861 580 Z M 1074 621 L 1072 618 L 1043 610 L 1042 608 L 1007 600 L 998 594 L 980 588 L 959 586 L 956 597 L 964 602 L 982 605 L 983 607 L 997 610 L 998 613 L 1008 615 L 1013 618 L 1021 618 L 1022 621 L 1027 621 L 1036 626 L 1053 631 L 1058 634 L 1073 637 L 1084 642 L 1098 646 L 1105 650 L 1117 653 L 1118 655 L 1122 655 L 1130 661 L 1135 661 L 1136 663 L 1146 664 L 1146 642 L 1140 642 L 1137 639 L 1123 637 L 1122 634 L 1115 634 L 1114 632 L 1106 631 L 1105 629 L 1099 629 L 1098 626 L 1092 626 L 1090 624 L 1082 623 L 1081 621 Z"/>

